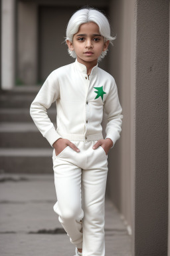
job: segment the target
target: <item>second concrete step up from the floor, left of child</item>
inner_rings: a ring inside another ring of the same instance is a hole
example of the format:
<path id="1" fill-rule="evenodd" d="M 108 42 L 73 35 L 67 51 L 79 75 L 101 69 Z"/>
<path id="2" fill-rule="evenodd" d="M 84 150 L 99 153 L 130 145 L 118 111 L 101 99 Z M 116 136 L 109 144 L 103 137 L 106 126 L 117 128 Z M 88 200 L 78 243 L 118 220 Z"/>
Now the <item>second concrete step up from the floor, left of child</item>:
<path id="1" fill-rule="evenodd" d="M 56 128 L 56 124 L 54 123 Z M 51 147 L 35 123 L 0 123 L 1 147 Z"/>

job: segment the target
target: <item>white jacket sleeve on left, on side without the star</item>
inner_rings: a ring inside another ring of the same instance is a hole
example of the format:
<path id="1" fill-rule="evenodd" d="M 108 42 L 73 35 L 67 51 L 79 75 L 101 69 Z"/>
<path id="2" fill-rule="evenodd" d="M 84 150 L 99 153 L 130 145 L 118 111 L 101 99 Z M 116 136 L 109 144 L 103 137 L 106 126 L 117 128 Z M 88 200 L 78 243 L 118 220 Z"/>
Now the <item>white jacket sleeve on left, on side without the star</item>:
<path id="1" fill-rule="evenodd" d="M 54 72 L 55 71 L 52 71 L 52 73 L 48 75 L 30 107 L 30 115 L 35 125 L 42 133 L 43 137 L 50 143 L 51 147 L 57 139 L 61 138 L 46 112 L 46 109 L 60 97 L 58 79 L 54 77 Z"/>

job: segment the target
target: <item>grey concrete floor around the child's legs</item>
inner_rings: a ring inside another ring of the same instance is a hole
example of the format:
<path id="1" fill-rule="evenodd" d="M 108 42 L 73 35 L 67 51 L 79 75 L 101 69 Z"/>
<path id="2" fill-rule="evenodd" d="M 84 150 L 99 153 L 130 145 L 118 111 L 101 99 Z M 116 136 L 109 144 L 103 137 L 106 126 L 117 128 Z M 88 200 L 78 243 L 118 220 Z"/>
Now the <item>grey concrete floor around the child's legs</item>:
<path id="1" fill-rule="evenodd" d="M 0 174 L 0 255 L 73 256 L 58 215 L 53 175 Z M 106 256 L 131 256 L 131 236 L 106 197 Z"/>

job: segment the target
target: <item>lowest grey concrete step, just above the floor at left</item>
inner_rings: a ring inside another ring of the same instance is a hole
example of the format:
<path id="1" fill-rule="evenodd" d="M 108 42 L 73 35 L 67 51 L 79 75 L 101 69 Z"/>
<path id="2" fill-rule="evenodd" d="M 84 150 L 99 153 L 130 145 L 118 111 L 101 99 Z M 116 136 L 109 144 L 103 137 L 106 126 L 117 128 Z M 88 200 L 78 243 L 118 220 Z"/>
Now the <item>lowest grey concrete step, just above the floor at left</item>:
<path id="1" fill-rule="evenodd" d="M 39 148 L 1 148 L 1 173 L 52 173 L 52 147 Z"/>

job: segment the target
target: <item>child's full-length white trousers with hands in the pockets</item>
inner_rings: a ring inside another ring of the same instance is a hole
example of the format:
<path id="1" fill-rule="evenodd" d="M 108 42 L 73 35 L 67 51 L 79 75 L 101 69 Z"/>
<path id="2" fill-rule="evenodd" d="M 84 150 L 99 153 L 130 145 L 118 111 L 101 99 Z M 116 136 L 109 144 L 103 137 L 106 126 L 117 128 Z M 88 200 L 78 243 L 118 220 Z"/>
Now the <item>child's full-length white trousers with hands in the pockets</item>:
<path id="1" fill-rule="evenodd" d="M 105 192 L 108 155 L 97 141 L 72 141 L 58 155 L 53 150 L 54 184 L 57 201 L 54 211 L 70 242 L 82 248 L 83 256 L 105 255 Z"/>

